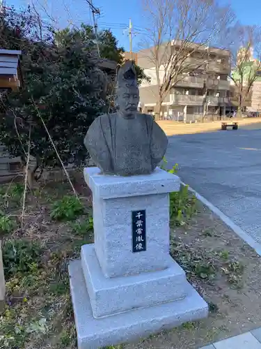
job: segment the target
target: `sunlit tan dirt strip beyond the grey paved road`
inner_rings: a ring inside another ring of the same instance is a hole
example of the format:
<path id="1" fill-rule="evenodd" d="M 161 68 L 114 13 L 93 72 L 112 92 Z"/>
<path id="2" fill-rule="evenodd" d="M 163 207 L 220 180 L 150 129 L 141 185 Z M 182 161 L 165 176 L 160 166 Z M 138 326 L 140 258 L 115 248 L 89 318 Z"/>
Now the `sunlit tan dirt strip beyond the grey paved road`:
<path id="1" fill-rule="evenodd" d="M 261 128 L 261 119 L 260 118 L 249 118 L 249 119 L 239 119 L 232 120 L 239 123 L 240 128 L 253 129 L 255 127 Z M 221 130 L 222 121 L 213 121 L 205 123 L 196 123 L 196 124 L 184 124 L 182 122 L 175 121 L 157 121 L 159 126 L 165 131 L 166 135 L 187 135 L 191 133 L 205 133 Z M 224 131 L 223 131 L 224 132 Z"/>

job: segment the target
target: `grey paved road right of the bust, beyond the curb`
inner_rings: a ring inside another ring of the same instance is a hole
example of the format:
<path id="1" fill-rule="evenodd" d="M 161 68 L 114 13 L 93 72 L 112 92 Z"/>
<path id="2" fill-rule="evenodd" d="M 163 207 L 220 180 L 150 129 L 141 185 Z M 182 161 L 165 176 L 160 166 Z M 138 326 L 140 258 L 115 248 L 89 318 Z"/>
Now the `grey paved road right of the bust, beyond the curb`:
<path id="1" fill-rule="evenodd" d="M 181 179 L 261 244 L 261 129 L 169 138 Z"/>

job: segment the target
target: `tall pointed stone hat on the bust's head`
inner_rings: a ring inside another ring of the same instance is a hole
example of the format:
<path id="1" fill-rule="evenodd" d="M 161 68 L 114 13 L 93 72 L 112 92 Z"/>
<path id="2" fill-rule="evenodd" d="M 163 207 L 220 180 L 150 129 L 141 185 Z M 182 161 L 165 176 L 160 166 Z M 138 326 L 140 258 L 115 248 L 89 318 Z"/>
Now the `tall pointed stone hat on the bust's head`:
<path id="1" fill-rule="evenodd" d="M 120 87 L 138 87 L 136 70 L 132 61 L 125 61 L 118 69 L 116 89 Z"/>

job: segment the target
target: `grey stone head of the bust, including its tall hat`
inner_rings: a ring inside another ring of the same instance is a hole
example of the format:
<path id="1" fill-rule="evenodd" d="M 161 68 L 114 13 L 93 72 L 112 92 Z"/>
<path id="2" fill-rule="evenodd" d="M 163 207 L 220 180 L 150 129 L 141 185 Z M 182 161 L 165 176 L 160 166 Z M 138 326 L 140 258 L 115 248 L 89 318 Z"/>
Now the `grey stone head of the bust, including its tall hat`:
<path id="1" fill-rule="evenodd" d="M 134 64 L 131 61 L 126 61 L 118 70 L 115 102 L 122 117 L 132 119 L 136 116 L 139 87 Z"/>

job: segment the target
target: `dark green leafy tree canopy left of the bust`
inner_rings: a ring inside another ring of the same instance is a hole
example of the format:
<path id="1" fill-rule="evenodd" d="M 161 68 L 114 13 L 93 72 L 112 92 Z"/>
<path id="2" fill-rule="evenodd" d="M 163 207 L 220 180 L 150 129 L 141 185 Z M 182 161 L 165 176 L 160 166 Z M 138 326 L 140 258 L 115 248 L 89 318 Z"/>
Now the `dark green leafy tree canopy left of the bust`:
<path id="1" fill-rule="evenodd" d="M 6 117 L 0 121 L 0 140 L 13 156 L 26 162 L 30 154 L 38 168 L 80 165 L 87 154 L 84 135 L 106 106 L 106 74 L 97 67 L 93 28 L 54 31 L 39 23 L 31 8 L 14 8 L 1 15 L 0 46 L 22 50 L 24 88 L 8 96 Z M 111 31 L 99 32 L 100 56 L 122 63 L 122 47 Z M 136 67 L 139 80 L 146 78 Z M 51 142 L 52 138 L 52 142 Z M 54 149 L 54 146 L 56 150 Z"/>

